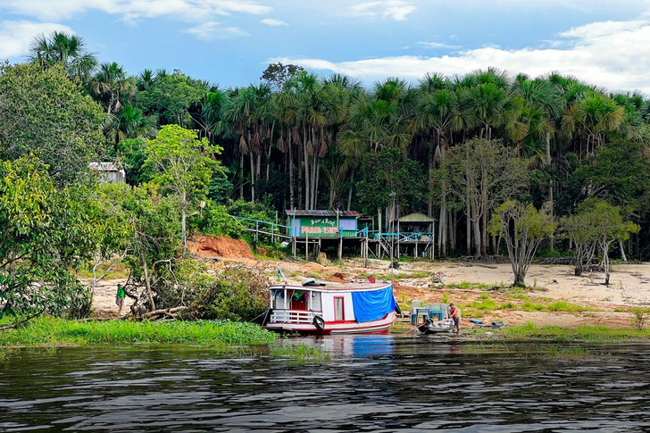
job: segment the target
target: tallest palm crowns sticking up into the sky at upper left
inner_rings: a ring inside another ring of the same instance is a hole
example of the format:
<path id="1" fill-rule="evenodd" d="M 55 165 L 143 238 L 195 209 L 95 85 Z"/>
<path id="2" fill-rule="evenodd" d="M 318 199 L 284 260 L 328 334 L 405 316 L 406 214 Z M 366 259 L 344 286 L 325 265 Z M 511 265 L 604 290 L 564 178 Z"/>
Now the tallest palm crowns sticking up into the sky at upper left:
<path id="1" fill-rule="evenodd" d="M 29 62 L 42 68 L 61 64 L 69 78 L 82 81 L 88 78 L 97 65 L 95 55 L 86 50 L 83 37 L 61 31 L 35 37 L 29 46 L 28 58 Z"/>

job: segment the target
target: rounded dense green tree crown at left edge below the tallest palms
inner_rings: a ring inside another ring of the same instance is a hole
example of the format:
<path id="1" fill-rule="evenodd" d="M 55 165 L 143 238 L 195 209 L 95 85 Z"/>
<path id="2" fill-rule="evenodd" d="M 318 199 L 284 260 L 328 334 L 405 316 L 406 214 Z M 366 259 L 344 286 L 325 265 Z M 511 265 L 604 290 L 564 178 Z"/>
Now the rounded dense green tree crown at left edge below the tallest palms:
<path id="1" fill-rule="evenodd" d="M 104 112 L 61 66 L 0 66 L 0 159 L 36 154 L 63 187 L 89 176 L 104 138 Z"/>

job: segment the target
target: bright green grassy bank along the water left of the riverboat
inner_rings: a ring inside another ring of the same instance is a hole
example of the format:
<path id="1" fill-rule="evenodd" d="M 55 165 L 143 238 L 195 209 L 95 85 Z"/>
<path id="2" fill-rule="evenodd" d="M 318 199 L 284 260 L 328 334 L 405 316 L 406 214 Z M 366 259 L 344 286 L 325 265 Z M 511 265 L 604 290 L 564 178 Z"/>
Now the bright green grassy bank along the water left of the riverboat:
<path id="1" fill-rule="evenodd" d="M 0 331 L 0 347 L 180 343 L 227 348 L 268 344 L 276 338 L 257 325 L 230 321 L 80 322 L 46 317 Z"/>

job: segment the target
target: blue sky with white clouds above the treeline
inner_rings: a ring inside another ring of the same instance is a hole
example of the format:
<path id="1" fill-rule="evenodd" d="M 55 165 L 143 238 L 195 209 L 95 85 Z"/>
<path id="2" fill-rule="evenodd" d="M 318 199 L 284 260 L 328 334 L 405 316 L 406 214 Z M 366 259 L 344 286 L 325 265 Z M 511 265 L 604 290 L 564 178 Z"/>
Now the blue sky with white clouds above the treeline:
<path id="1" fill-rule="evenodd" d="M 0 0 L 0 59 L 25 61 L 54 30 L 130 74 L 221 87 L 284 62 L 366 86 L 495 67 L 650 96 L 650 0 Z"/>

